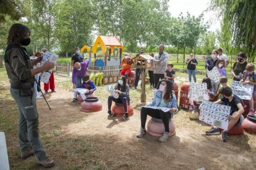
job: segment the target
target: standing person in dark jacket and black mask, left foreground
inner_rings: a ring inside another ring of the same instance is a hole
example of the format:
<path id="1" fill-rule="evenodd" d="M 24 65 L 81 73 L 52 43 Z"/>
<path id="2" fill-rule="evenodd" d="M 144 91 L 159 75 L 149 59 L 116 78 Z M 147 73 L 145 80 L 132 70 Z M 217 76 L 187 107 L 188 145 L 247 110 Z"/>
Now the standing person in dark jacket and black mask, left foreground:
<path id="1" fill-rule="evenodd" d="M 48 158 L 40 141 L 33 83 L 36 74 L 53 69 L 54 63 L 46 62 L 42 67 L 33 69 L 36 63 L 41 62 L 42 57 L 31 61 L 27 50 L 23 47 L 30 44 L 30 30 L 25 25 L 15 23 L 11 26 L 7 44 L 4 62 L 10 79 L 10 92 L 19 108 L 18 131 L 21 158 L 26 159 L 35 155 L 38 164 L 49 168 L 55 163 Z"/>

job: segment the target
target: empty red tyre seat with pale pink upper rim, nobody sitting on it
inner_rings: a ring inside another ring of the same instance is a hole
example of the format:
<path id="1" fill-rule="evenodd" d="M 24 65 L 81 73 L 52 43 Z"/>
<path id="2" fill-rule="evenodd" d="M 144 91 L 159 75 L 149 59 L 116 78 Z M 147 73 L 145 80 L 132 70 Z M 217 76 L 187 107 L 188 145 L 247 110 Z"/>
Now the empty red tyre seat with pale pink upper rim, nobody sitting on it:
<path id="1" fill-rule="evenodd" d="M 102 103 L 98 97 L 88 97 L 81 103 L 81 110 L 85 112 L 95 112 L 102 110 Z"/>

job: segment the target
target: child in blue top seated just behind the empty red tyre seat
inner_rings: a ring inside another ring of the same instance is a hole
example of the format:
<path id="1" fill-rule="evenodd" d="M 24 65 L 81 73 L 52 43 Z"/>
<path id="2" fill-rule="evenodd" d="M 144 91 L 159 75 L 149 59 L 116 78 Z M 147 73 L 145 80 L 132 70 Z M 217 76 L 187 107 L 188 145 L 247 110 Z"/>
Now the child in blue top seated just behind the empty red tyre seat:
<path id="1" fill-rule="evenodd" d="M 87 94 L 93 94 L 94 91 L 96 91 L 96 86 L 93 83 L 93 81 L 90 80 L 90 76 L 89 75 L 85 75 L 82 77 L 83 79 L 83 84 L 82 87 L 77 87 L 77 88 L 84 88 L 84 89 L 88 89 L 89 92 Z M 74 99 L 72 100 L 72 102 L 77 102 L 77 95 L 79 94 L 79 92 L 75 91 L 74 92 Z M 80 94 L 82 99 L 85 100 L 86 96 L 85 94 Z"/>

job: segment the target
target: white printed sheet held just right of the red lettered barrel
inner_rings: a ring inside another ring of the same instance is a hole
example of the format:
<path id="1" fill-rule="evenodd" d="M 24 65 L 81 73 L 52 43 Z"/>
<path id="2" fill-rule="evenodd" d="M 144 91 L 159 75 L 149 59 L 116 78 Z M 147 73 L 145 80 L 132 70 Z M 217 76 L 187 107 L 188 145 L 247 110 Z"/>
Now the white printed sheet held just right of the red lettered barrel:
<path id="1" fill-rule="evenodd" d="M 193 103 L 194 100 L 196 101 L 202 101 L 203 95 L 207 94 L 207 84 L 202 83 L 190 83 L 189 86 L 189 93 L 187 94 L 187 97 L 190 100 L 190 103 Z"/>

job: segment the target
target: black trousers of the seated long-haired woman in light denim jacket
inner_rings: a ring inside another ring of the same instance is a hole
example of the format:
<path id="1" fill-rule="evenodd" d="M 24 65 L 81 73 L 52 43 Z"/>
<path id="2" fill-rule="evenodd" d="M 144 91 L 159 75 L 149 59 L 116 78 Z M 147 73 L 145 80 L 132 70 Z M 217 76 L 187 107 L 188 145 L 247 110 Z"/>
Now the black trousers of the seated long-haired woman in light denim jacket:
<path id="1" fill-rule="evenodd" d="M 169 111 L 164 112 L 158 109 L 143 107 L 142 110 L 140 111 L 140 122 L 143 129 L 145 129 L 147 115 L 156 119 L 162 119 L 165 131 L 170 132 L 169 119 L 171 118 L 171 113 L 169 113 Z"/>

